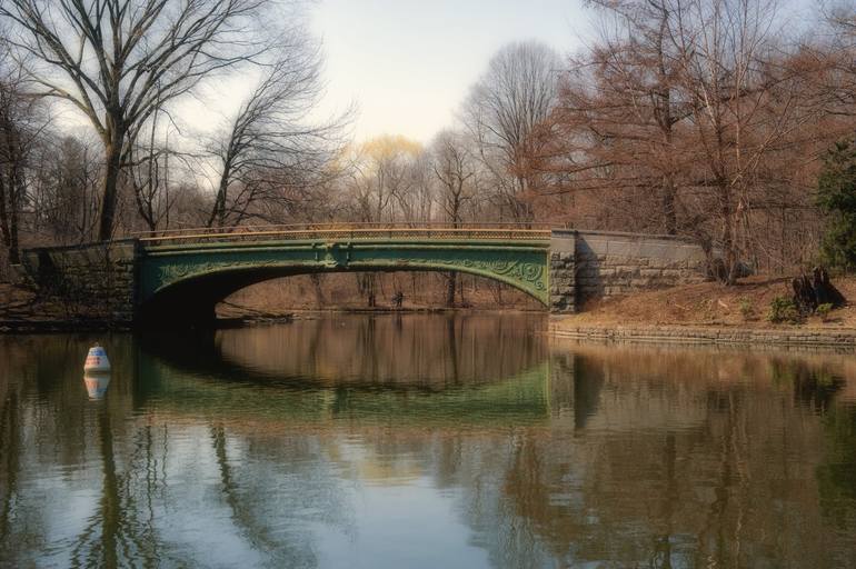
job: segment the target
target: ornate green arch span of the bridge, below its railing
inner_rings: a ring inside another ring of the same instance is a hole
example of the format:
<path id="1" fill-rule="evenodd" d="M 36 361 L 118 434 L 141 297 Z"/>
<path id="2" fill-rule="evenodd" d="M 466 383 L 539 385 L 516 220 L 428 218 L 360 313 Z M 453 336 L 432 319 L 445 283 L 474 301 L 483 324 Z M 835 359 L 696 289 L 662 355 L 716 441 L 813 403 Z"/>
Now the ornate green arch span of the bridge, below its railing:
<path id="1" fill-rule="evenodd" d="M 458 271 L 510 284 L 549 306 L 549 239 L 354 238 L 146 244 L 136 320 L 206 322 L 232 292 L 297 274 Z"/>

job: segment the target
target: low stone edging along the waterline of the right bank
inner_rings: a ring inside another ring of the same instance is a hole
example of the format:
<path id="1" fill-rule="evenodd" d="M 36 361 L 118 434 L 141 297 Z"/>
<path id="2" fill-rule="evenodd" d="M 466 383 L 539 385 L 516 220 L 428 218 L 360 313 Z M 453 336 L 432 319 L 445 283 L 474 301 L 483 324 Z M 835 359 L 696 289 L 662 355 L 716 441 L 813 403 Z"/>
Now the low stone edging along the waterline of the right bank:
<path id="1" fill-rule="evenodd" d="M 685 328 L 685 327 L 598 327 L 569 326 L 551 322 L 550 332 L 559 338 L 600 340 L 611 342 L 658 342 L 687 345 L 731 346 L 804 346 L 856 349 L 856 331 L 793 329 L 739 329 L 739 328 Z"/>

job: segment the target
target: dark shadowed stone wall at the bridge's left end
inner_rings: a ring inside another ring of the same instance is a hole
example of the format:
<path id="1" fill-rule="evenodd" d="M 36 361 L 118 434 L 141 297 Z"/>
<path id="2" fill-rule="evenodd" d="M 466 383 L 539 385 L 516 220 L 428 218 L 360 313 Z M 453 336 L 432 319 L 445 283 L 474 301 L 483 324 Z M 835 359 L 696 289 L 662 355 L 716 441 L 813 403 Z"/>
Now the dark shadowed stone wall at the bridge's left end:
<path id="1" fill-rule="evenodd" d="M 136 306 L 136 240 L 29 249 L 21 266 L 44 300 L 68 318 L 130 325 Z"/>

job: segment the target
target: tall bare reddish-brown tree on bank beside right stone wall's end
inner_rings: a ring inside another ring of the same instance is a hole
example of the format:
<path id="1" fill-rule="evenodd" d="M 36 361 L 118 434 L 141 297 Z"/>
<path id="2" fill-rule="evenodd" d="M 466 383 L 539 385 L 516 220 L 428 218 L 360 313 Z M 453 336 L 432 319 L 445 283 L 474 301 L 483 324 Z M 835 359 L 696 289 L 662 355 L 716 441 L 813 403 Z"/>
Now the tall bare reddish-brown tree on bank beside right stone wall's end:
<path id="1" fill-rule="evenodd" d="M 767 81 L 763 60 L 776 31 L 775 0 L 688 2 L 684 89 L 691 101 L 689 138 L 696 170 L 693 188 L 701 212 L 714 212 L 716 241 L 723 249 L 721 279 L 734 283 L 746 251 L 745 222 L 752 190 L 774 144 L 797 127 L 793 92 Z M 774 104 L 775 102 L 775 104 Z"/>

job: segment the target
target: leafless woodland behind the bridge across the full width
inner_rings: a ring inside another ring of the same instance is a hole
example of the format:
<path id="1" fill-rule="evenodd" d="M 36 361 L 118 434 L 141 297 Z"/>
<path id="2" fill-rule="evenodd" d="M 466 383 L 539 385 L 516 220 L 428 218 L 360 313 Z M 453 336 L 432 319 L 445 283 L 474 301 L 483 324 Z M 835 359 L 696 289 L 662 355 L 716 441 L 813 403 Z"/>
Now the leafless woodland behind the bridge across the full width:
<path id="1" fill-rule="evenodd" d="M 0 276 L 27 246 L 321 221 L 684 236 L 721 251 L 726 282 L 810 264 L 820 161 L 856 127 L 856 6 L 809 22 L 778 0 L 587 6 L 584 49 L 505 46 L 421 144 L 352 140 L 357 109 L 318 118 L 324 51 L 298 0 L 6 0 Z M 236 74 L 255 87 L 217 129 L 177 113 Z M 370 303 L 375 287 L 359 278 Z"/>

